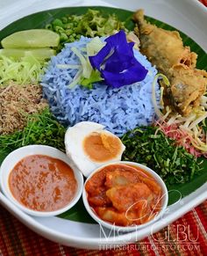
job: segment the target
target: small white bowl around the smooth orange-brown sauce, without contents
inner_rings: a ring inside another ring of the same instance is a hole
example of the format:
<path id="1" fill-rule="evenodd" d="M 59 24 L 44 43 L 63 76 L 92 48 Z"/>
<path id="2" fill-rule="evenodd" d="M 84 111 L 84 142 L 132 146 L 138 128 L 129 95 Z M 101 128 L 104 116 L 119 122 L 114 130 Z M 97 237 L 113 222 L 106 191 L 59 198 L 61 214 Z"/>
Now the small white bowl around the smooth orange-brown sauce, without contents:
<path id="1" fill-rule="evenodd" d="M 75 192 L 75 196 L 72 201 L 68 202 L 68 205 L 64 208 L 60 208 L 54 211 L 37 211 L 32 210 L 30 208 L 26 208 L 23 204 L 18 202 L 14 196 L 11 194 L 11 190 L 9 187 L 9 176 L 11 170 L 14 168 L 15 165 L 18 164 L 20 160 L 24 157 L 32 156 L 32 155 L 44 155 L 48 157 L 54 157 L 62 160 L 67 165 L 69 165 L 72 170 L 74 171 L 75 179 L 77 181 L 77 188 Z M 72 208 L 75 203 L 80 199 L 82 195 L 82 188 L 83 188 L 83 177 L 82 172 L 80 172 L 73 163 L 69 160 L 66 154 L 61 152 L 61 150 L 57 150 L 50 146 L 45 145 L 29 145 L 18 150 L 12 151 L 7 157 L 5 157 L 1 167 L 0 167 L 0 186 L 3 193 L 6 197 L 11 200 L 18 208 L 22 209 L 25 213 L 32 215 L 32 216 L 57 216 L 61 213 L 67 211 L 69 208 Z"/>

